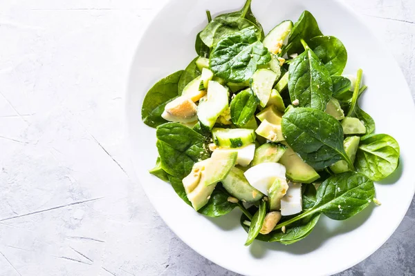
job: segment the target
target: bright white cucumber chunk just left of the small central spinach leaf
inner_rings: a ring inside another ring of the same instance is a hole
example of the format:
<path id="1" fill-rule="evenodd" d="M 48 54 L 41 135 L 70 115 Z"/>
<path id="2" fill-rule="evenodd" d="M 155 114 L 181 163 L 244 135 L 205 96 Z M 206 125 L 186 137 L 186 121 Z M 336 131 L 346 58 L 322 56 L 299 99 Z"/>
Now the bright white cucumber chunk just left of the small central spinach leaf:
<path id="1" fill-rule="evenodd" d="M 216 119 L 228 108 L 229 91 L 219 82 L 209 81 L 208 97 L 199 101 L 197 117 L 201 124 L 212 129 Z"/>

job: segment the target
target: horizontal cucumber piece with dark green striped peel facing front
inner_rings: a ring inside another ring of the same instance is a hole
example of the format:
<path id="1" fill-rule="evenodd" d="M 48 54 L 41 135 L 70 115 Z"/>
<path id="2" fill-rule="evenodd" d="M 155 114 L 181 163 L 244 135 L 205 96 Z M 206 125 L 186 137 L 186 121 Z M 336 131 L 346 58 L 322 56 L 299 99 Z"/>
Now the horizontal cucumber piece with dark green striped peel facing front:
<path id="1" fill-rule="evenodd" d="M 212 137 L 217 146 L 240 148 L 255 141 L 256 135 L 247 128 L 213 128 Z"/>

